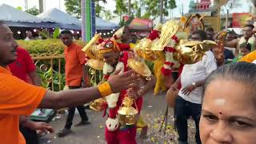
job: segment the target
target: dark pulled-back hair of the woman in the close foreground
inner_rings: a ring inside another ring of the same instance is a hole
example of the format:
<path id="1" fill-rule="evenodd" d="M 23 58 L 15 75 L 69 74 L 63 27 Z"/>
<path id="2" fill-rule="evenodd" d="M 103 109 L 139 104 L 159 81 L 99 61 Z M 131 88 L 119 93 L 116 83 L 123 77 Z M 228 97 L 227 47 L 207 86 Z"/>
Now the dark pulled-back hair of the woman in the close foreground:
<path id="1" fill-rule="evenodd" d="M 233 80 L 241 82 L 248 86 L 251 90 L 250 94 L 254 94 L 254 101 L 256 102 L 256 64 L 248 62 L 237 62 L 233 64 L 224 65 L 214 70 L 207 78 L 204 86 L 204 92 L 209 86 L 210 82 L 216 79 Z M 230 90 L 231 90 L 230 86 Z"/>

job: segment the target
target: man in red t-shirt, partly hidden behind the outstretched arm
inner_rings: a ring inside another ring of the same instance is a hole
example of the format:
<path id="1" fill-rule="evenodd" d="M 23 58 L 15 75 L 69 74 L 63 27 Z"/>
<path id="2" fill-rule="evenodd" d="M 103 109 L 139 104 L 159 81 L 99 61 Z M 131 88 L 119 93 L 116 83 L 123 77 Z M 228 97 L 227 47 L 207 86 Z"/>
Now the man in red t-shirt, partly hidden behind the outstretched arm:
<path id="1" fill-rule="evenodd" d="M 17 78 L 20 78 L 24 82 L 29 80 L 26 75 L 29 76 L 30 81 L 34 86 L 41 86 L 41 79 L 39 78 L 36 70 L 36 66 L 30 54 L 22 47 L 17 48 L 17 58 L 15 62 L 8 65 L 10 72 Z M 38 134 L 36 130 L 53 131 L 52 127 L 46 122 L 34 122 L 26 116 L 20 116 L 20 127 L 19 130 L 22 132 L 26 139 L 26 144 L 38 144 Z"/>

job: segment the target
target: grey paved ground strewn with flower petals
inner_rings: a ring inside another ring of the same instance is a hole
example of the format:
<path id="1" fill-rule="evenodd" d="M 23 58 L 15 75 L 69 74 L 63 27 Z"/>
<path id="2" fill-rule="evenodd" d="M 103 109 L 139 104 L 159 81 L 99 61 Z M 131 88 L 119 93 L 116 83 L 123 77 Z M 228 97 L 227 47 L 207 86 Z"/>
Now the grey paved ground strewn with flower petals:
<path id="1" fill-rule="evenodd" d="M 159 133 L 162 119 L 166 111 L 165 94 L 153 96 L 153 92 L 146 94 L 144 97 L 144 108 L 142 116 L 149 123 L 148 138 L 141 140 L 138 138 L 138 144 L 153 144 L 153 143 L 177 143 L 177 134 L 174 131 L 173 110 L 169 109 L 168 124 L 166 126 L 166 134 Z M 40 138 L 41 144 L 100 144 L 104 141 L 104 122 L 106 118 L 102 118 L 102 112 L 94 112 L 86 110 L 91 124 L 88 126 L 72 128 L 72 134 L 65 138 L 58 138 L 56 134 L 47 134 Z M 61 118 L 56 118 L 50 124 L 54 127 L 55 132 L 62 130 L 65 123 L 66 115 L 61 115 Z M 79 114 L 75 115 L 74 124 L 80 121 Z M 189 138 L 194 138 L 194 123 L 189 122 Z M 191 129 L 192 127 L 192 129 Z M 138 131 L 138 134 L 140 132 Z M 194 142 L 192 142 L 194 143 Z"/>

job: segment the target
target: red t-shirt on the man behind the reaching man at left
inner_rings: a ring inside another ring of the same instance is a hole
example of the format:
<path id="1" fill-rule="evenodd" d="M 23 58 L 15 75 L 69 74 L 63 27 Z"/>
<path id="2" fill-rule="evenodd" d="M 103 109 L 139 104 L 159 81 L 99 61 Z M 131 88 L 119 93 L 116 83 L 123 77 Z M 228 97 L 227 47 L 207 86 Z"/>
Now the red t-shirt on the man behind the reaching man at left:
<path id="1" fill-rule="evenodd" d="M 17 59 L 9 65 L 9 68 L 15 77 L 20 78 L 25 82 L 28 82 L 26 75 L 36 69 L 30 54 L 21 47 L 18 47 Z"/>

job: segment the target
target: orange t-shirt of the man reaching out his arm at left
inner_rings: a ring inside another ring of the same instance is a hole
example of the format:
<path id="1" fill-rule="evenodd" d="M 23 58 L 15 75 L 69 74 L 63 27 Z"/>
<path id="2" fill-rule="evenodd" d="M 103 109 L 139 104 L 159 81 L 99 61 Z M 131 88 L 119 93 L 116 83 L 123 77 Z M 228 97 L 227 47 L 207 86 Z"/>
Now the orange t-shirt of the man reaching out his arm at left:
<path id="1" fill-rule="evenodd" d="M 19 132 L 19 115 L 30 115 L 46 90 L 30 85 L 0 66 L 0 143 L 26 144 Z"/>

